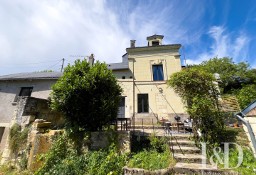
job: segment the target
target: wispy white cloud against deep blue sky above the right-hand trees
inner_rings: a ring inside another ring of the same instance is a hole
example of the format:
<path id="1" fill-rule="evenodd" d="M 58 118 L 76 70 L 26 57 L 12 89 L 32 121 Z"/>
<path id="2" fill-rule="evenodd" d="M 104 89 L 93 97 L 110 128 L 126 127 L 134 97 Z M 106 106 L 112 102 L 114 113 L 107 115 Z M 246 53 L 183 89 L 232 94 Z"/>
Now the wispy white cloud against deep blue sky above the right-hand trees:
<path id="1" fill-rule="evenodd" d="M 213 57 L 231 57 L 236 62 L 247 59 L 250 40 L 245 33 L 227 33 L 225 27 L 213 26 L 208 35 L 213 40 L 208 46 L 210 49 L 199 54 L 198 59 L 188 59 L 188 64 L 199 64 Z"/>

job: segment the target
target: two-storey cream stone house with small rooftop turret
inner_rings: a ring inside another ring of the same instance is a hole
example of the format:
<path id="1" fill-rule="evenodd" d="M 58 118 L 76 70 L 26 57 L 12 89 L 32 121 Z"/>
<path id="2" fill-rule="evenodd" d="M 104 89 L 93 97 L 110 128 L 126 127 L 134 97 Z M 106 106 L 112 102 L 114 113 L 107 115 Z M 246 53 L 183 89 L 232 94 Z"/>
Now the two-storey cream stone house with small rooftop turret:
<path id="1" fill-rule="evenodd" d="M 122 62 L 108 65 L 123 88 L 118 117 L 148 124 L 162 118 L 173 121 L 176 115 L 187 118 L 180 97 L 167 85 L 170 75 L 182 69 L 181 45 L 165 45 L 163 38 L 149 36 L 143 47 L 131 40 Z"/>

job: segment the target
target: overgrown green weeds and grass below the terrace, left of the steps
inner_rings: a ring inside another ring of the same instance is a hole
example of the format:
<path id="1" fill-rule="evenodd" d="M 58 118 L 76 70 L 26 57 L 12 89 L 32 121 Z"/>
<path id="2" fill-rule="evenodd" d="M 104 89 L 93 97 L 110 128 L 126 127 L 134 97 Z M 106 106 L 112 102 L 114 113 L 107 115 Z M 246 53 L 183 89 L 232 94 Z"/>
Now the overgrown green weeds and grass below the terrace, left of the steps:
<path id="1" fill-rule="evenodd" d="M 130 155 L 121 154 L 115 142 L 107 149 L 79 154 L 72 139 L 63 134 L 54 142 L 50 151 L 41 157 L 44 163 L 35 174 L 119 175 L 127 164 L 148 170 L 168 168 L 174 162 L 168 139 L 151 136 L 148 140 L 151 148 Z"/>

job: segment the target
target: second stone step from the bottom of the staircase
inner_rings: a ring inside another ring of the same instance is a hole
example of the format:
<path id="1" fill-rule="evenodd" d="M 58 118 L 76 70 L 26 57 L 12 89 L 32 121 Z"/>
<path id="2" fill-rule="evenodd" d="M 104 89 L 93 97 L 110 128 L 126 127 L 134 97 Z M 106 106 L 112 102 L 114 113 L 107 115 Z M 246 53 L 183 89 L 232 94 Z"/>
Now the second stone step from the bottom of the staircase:
<path id="1" fill-rule="evenodd" d="M 175 153 L 174 158 L 177 160 L 177 162 L 185 162 L 185 163 L 202 163 L 203 159 L 207 161 L 207 158 L 205 156 L 202 156 L 201 154 Z"/>

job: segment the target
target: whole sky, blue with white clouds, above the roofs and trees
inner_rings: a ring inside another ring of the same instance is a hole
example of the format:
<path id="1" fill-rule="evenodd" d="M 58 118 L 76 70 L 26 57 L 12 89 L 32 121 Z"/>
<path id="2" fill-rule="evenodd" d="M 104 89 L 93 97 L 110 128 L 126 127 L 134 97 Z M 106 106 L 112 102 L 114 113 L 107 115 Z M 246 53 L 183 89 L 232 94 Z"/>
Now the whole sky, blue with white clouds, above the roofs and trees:
<path id="1" fill-rule="evenodd" d="M 59 71 L 91 53 L 120 62 L 131 39 L 153 34 L 182 44 L 188 64 L 227 56 L 256 68 L 254 0 L 0 0 L 0 23 L 0 75 Z"/>

